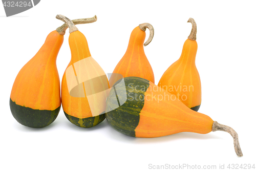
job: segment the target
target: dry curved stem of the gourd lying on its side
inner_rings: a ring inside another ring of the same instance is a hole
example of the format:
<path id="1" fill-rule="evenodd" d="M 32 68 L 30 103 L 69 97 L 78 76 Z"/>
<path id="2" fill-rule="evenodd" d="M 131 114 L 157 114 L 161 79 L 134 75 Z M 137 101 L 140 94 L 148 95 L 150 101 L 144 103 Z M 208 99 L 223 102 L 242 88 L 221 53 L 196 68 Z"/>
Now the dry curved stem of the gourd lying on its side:
<path id="1" fill-rule="evenodd" d="M 233 137 L 233 140 L 234 140 L 234 151 L 236 151 L 238 156 L 243 156 L 243 153 L 241 151 L 239 141 L 238 141 L 238 134 L 231 127 L 220 124 L 217 121 L 214 121 L 214 123 L 212 124 L 211 131 L 213 131 L 213 132 L 225 131 L 225 132 L 229 133 Z"/>

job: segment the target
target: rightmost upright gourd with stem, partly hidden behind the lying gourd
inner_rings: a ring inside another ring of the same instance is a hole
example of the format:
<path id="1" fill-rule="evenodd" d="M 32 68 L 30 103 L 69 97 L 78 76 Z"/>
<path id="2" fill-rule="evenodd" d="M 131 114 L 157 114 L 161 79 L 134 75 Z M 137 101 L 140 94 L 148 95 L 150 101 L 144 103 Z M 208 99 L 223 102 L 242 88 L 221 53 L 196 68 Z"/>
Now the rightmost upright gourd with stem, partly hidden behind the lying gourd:
<path id="1" fill-rule="evenodd" d="M 198 111 L 201 105 L 201 81 L 196 67 L 197 25 L 193 18 L 188 23 L 192 30 L 185 41 L 180 58 L 162 75 L 158 86 L 176 95 L 188 108 Z"/>

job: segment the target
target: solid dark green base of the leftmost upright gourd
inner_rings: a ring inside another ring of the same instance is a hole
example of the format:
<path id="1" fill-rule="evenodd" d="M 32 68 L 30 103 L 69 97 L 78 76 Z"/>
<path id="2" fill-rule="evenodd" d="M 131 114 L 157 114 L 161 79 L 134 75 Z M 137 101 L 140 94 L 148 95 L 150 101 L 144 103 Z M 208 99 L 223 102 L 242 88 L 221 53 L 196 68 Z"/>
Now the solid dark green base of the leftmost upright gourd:
<path id="1" fill-rule="evenodd" d="M 53 110 L 35 110 L 21 106 L 10 98 L 10 109 L 13 117 L 20 123 L 29 127 L 45 127 L 51 124 L 58 116 L 60 106 Z"/>

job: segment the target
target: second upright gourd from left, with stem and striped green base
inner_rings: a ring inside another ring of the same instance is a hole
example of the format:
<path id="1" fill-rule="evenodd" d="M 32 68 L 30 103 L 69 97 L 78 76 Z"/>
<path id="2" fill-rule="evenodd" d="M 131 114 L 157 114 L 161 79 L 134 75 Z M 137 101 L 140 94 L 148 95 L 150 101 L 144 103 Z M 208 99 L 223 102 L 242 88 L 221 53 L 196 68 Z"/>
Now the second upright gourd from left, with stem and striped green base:
<path id="1" fill-rule="evenodd" d="M 63 111 L 68 120 L 77 126 L 95 126 L 105 119 L 108 78 L 92 58 L 86 37 L 69 18 L 63 15 L 56 18 L 68 24 L 70 31 L 71 61 L 61 82 Z"/>

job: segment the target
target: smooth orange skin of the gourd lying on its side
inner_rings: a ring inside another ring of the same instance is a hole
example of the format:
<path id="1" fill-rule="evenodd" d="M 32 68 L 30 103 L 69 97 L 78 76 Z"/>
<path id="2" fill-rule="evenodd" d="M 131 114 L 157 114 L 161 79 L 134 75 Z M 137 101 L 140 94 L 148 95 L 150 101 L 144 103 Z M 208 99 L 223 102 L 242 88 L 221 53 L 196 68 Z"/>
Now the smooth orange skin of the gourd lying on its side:
<path id="1" fill-rule="evenodd" d="M 180 132 L 207 134 L 213 120 L 202 113 L 187 108 L 172 94 L 150 82 L 144 94 L 136 137 L 161 137 Z"/>

